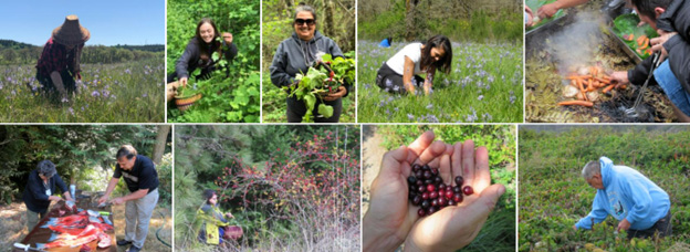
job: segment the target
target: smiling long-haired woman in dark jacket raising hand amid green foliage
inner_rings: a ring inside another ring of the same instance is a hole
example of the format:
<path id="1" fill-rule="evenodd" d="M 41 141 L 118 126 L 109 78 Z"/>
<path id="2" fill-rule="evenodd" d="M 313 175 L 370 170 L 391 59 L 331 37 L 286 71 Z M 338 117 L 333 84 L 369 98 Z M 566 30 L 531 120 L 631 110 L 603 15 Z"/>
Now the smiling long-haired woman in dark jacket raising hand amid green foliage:
<path id="1" fill-rule="evenodd" d="M 222 35 L 222 42 L 219 39 Z M 218 53 L 218 60 L 213 60 L 213 53 Z M 175 72 L 167 76 L 167 98 L 170 101 L 175 96 L 175 90 L 187 85 L 189 75 L 197 69 L 201 69 L 197 80 L 211 77 L 211 73 L 217 70 L 217 63 L 223 57 L 231 62 L 237 56 L 238 50 L 232 43 L 232 34 L 218 31 L 216 23 L 211 19 L 205 18 L 197 24 L 197 32 L 192 38 L 185 53 L 175 63 Z M 176 81 L 177 80 L 177 81 Z"/>

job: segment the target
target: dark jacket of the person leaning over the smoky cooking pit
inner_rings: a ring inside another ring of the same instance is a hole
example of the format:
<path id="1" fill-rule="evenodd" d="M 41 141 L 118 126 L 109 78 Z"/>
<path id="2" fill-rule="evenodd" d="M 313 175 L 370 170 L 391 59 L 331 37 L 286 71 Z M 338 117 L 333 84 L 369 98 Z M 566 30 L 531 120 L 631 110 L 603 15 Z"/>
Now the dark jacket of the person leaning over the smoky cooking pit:
<path id="1" fill-rule="evenodd" d="M 683 90 L 690 93 L 690 0 L 671 2 L 666 12 L 657 19 L 657 29 L 678 32 L 677 35 L 663 43 L 663 48 L 668 52 L 668 61 L 673 75 Z M 651 69 L 651 56 L 647 57 L 635 69 L 628 71 L 630 83 L 645 83 Z"/>

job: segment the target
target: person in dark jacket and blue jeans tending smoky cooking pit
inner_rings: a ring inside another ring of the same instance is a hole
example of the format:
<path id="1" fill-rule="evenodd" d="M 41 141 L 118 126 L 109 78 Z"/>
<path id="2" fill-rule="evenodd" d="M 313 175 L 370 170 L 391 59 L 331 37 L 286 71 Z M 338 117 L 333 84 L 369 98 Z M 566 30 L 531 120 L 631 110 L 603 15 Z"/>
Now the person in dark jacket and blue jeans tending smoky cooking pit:
<path id="1" fill-rule="evenodd" d="M 649 41 L 651 51 L 661 52 L 654 78 L 672 103 L 678 120 L 690 123 L 690 1 L 632 0 L 640 20 L 657 30 L 658 38 Z M 668 56 L 668 60 L 665 60 Z M 619 83 L 642 84 L 651 69 L 652 56 L 630 71 L 614 72 L 611 80 Z"/>

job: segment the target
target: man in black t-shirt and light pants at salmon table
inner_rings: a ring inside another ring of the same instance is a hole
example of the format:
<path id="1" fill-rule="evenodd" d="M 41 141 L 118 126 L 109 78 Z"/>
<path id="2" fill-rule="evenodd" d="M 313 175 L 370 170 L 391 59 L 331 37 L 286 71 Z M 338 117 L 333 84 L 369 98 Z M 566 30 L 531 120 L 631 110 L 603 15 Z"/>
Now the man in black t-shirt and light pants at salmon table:
<path id="1" fill-rule="evenodd" d="M 125 177 L 127 189 L 132 193 L 112 199 L 109 202 L 114 204 L 126 202 L 125 239 L 117 241 L 117 245 L 132 244 L 127 251 L 138 252 L 144 246 L 148 223 L 158 202 L 158 172 L 154 162 L 146 156 L 137 155 L 130 145 L 119 147 L 116 158 L 115 174 L 98 203 L 108 201 L 119 178 Z"/>

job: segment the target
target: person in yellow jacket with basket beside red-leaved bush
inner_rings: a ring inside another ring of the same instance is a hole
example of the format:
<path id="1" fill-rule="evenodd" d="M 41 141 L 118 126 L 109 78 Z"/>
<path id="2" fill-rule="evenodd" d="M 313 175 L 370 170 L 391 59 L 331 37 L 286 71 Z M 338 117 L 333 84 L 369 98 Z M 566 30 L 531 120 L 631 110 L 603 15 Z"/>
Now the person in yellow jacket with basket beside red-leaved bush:
<path id="1" fill-rule="evenodd" d="M 226 240 L 237 240 L 242 237 L 242 228 L 230 225 L 232 213 L 223 213 L 218 208 L 218 195 L 215 190 L 203 190 L 206 203 L 197 211 L 197 217 L 202 221 L 200 239 L 207 244 L 218 245 Z"/>

